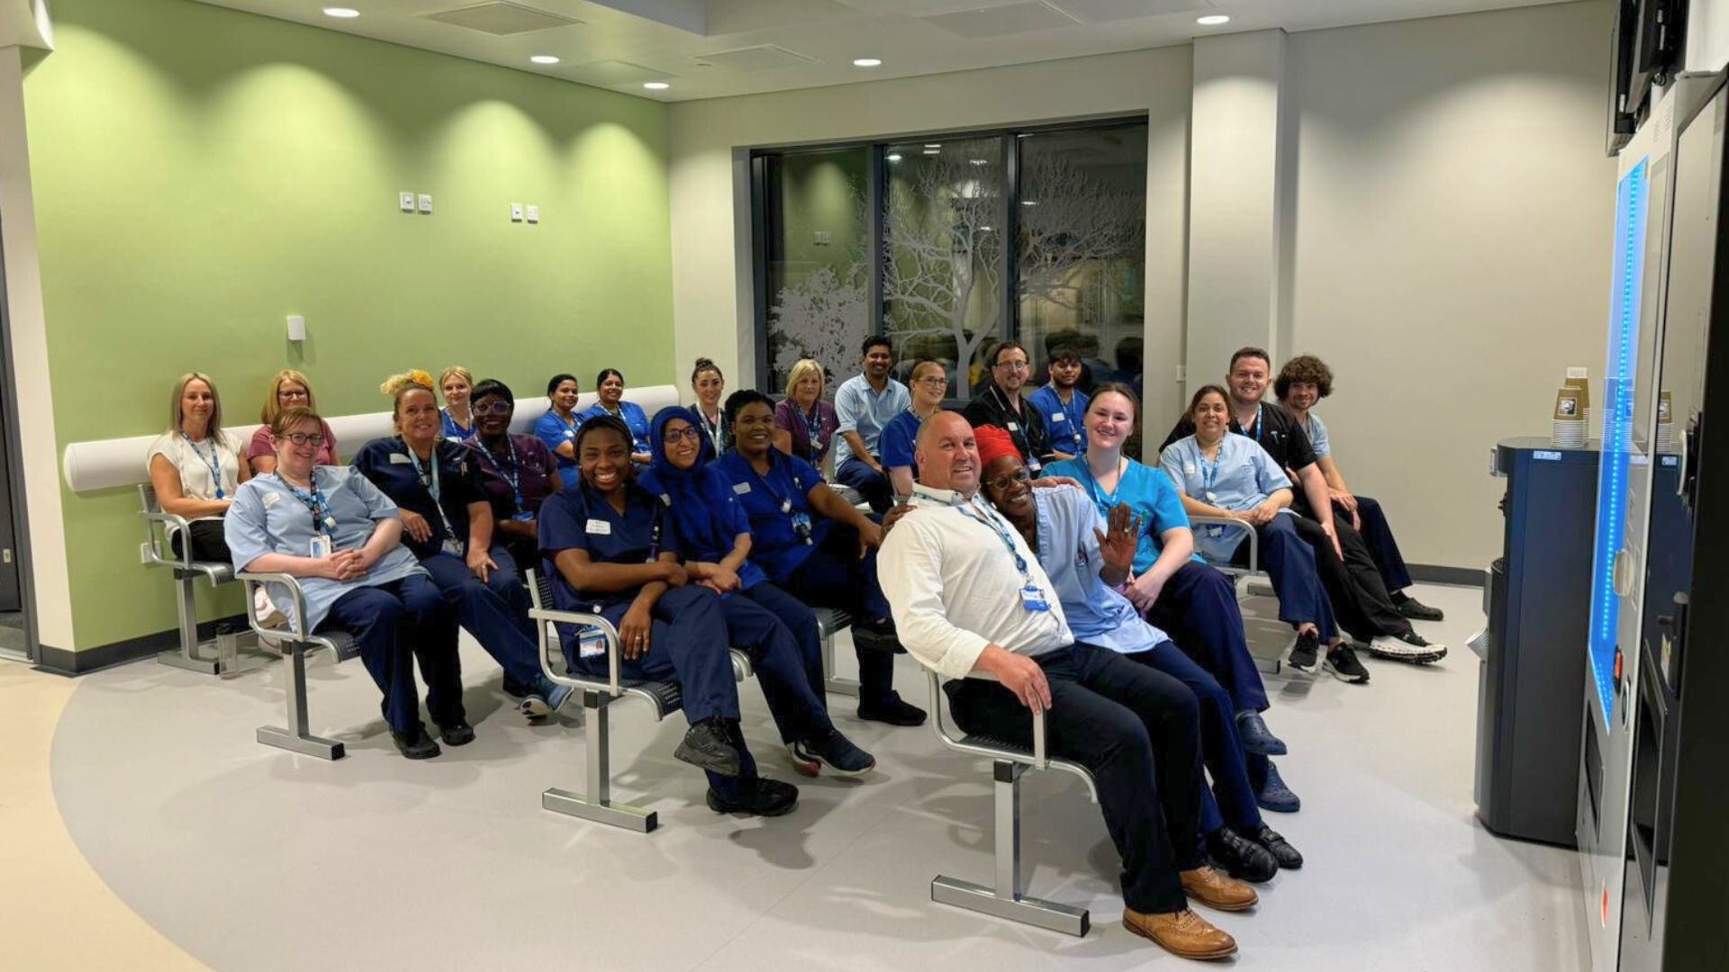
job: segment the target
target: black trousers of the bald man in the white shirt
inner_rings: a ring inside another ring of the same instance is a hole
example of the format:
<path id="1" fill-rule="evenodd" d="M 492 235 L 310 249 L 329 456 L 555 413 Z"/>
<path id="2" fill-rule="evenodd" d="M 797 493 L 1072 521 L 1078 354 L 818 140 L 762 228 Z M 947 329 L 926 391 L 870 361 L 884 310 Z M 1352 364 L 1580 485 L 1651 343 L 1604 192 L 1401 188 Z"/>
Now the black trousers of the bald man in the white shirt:
<path id="1" fill-rule="evenodd" d="M 1093 645 L 1034 659 L 1051 683 L 1051 756 L 1093 771 L 1105 828 L 1122 856 L 1122 903 L 1164 915 L 1188 908 L 1179 870 L 1202 865 L 1200 702 L 1176 678 Z M 968 733 L 1032 745 L 1032 718 L 996 681 L 946 685 Z"/>

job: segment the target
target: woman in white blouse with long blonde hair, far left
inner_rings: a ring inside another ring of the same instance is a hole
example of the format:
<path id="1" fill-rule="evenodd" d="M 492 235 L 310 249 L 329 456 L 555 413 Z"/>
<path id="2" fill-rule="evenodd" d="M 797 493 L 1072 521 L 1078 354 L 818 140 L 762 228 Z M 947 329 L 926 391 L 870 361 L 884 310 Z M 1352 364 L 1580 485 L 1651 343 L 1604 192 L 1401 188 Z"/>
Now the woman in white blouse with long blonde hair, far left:
<path id="1" fill-rule="evenodd" d="M 192 559 L 230 562 L 221 521 L 252 469 L 240 439 L 221 429 L 221 398 L 209 375 L 187 372 L 175 382 L 168 431 L 150 443 L 145 462 L 163 512 L 187 521 Z M 187 538 L 169 529 L 168 543 L 182 555 Z"/>

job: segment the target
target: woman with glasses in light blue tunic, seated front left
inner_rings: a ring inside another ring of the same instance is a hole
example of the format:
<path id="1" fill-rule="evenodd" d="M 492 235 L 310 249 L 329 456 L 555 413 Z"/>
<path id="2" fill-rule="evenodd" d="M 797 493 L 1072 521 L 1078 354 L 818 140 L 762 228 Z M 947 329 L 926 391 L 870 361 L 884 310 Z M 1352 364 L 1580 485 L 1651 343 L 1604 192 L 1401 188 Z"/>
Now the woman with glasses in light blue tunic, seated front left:
<path id="1" fill-rule="evenodd" d="M 415 657 L 427 681 L 427 709 L 444 739 L 467 726 L 456 659 L 456 619 L 437 586 L 401 543 L 396 503 L 365 476 L 344 465 L 318 465 L 325 424 L 316 412 L 292 406 L 270 424 L 273 472 L 240 484 L 223 519 L 235 567 L 299 578 L 308 631 L 348 631 L 367 673 L 384 692 L 384 721 L 396 749 L 429 759 L 439 747 L 420 721 Z M 277 609 L 292 619 L 294 604 L 280 585 L 265 585 Z M 455 739 L 453 739 L 455 735 Z"/>

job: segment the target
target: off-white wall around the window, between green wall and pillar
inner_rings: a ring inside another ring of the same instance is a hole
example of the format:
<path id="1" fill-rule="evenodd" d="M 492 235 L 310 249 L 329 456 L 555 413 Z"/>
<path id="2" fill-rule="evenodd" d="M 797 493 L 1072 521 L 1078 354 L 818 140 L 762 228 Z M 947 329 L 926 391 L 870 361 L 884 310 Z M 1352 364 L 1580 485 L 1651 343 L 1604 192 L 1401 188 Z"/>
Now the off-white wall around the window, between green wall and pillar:
<path id="1" fill-rule="evenodd" d="M 1183 360 L 1190 48 L 1171 47 L 986 71 L 673 106 L 673 315 L 685 365 L 714 358 L 752 384 L 747 147 L 880 138 L 1115 114 L 1148 116 L 1148 424 L 1176 415 Z M 1164 379 L 1155 394 L 1155 375 Z M 1164 422 L 1164 424 L 1158 424 Z"/>

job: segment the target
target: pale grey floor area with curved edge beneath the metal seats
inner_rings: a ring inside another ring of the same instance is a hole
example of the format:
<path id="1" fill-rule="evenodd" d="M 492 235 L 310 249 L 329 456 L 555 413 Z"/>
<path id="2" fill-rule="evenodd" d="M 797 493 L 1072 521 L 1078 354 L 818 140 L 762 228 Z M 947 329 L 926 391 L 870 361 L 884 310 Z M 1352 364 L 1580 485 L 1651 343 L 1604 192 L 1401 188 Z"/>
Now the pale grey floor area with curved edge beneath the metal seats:
<path id="1" fill-rule="evenodd" d="M 1503 841 L 1473 816 L 1478 662 L 1463 649 L 1482 593 L 1425 586 L 1454 645 L 1440 666 L 1369 662 L 1373 681 L 1281 675 L 1269 723 L 1302 813 L 1269 815 L 1309 858 L 1245 915 L 1241 969 L 1560 970 L 1580 967 L 1570 853 Z M 1276 638 L 1278 633 L 1269 636 Z M 842 655 L 849 654 L 845 650 Z M 842 728 L 878 758 L 861 782 L 802 782 L 778 820 L 721 818 L 674 763 L 681 721 L 614 718 L 621 796 L 662 827 L 636 835 L 539 809 L 581 782 L 574 725 L 529 726 L 498 669 L 463 643 L 479 740 L 408 763 L 358 662 L 313 669 L 339 763 L 259 747 L 280 723 L 277 664 L 233 680 L 138 662 L 81 680 L 55 735 L 55 797 L 81 851 L 157 930 L 221 970 L 737 969 L 1113 970 L 1184 967 L 1117 922 L 1115 853 L 1077 782 L 1029 777 L 1030 892 L 1093 910 L 1084 939 L 932 905 L 935 873 L 989 880 L 987 768 L 928 728 Z M 923 694 L 901 659 L 899 685 Z M 794 778 L 761 694 L 745 733 Z"/>

